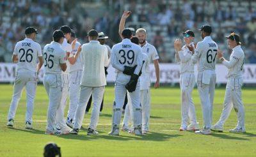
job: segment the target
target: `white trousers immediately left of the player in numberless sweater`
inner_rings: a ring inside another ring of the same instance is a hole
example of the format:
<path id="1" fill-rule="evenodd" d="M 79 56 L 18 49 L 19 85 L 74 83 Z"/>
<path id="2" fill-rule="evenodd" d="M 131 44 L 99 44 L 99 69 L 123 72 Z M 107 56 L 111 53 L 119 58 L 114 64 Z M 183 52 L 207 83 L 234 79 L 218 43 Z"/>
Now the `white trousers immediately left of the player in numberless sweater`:
<path id="1" fill-rule="evenodd" d="M 67 117 L 70 121 L 74 121 L 75 118 L 82 75 L 82 70 L 72 71 L 69 73 L 69 108 Z"/>

